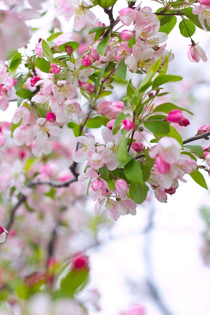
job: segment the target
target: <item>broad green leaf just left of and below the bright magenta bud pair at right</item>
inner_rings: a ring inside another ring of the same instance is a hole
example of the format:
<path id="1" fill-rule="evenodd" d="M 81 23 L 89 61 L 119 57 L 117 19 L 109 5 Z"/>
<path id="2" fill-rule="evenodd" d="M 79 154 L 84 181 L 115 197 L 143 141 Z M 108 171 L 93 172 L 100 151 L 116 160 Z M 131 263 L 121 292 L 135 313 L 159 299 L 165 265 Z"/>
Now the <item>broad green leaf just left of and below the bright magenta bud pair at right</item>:
<path id="1" fill-rule="evenodd" d="M 167 121 L 156 121 L 159 119 L 163 119 L 165 116 L 162 115 L 155 115 L 149 117 L 146 122 L 144 123 L 145 127 L 149 129 L 153 133 L 161 133 L 161 134 L 167 134 L 169 132 L 169 124 Z M 150 122 L 150 120 L 152 120 Z"/>

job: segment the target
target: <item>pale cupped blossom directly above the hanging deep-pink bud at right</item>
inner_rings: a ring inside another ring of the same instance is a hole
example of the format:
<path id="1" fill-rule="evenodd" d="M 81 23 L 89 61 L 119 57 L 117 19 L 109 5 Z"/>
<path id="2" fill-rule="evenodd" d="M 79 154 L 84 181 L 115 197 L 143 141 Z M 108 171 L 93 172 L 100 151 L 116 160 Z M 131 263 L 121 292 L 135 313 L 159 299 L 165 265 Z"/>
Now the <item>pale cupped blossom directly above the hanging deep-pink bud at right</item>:
<path id="1" fill-rule="evenodd" d="M 149 150 L 149 156 L 156 158 L 158 155 L 167 163 L 176 163 L 180 157 L 181 146 L 179 142 L 171 137 L 162 137 L 156 146 Z"/>

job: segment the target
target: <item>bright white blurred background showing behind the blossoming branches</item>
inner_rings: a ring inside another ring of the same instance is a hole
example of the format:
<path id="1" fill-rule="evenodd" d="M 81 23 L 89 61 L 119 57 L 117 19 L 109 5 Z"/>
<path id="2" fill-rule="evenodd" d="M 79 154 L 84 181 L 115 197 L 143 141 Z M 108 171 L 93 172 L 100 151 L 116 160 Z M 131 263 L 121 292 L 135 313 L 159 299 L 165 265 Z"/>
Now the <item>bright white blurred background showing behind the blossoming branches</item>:
<path id="1" fill-rule="evenodd" d="M 118 0 L 114 16 L 126 6 L 127 1 Z M 153 12 L 160 7 L 154 1 L 143 1 L 143 6 L 150 6 Z M 48 36 L 54 9 L 54 0 L 43 3 L 43 12 L 47 10 L 44 18 L 28 22 L 37 28 L 29 44 L 31 49 L 39 37 Z M 93 12 L 108 25 L 101 8 L 93 8 Z M 67 23 L 62 17 L 57 19 L 62 31 L 72 31 L 72 20 Z M 74 36 L 77 40 L 79 35 Z M 184 138 L 195 135 L 201 125 L 210 125 L 210 34 L 196 28 L 193 40 L 205 50 L 206 63 L 189 61 L 190 40 L 180 35 L 178 24 L 168 35 L 167 49 L 174 54 L 168 73 L 182 76 L 183 81 L 167 84 L 165 90 L 170 94 L 160 100 L 170 100 L 194 112 L 193 117 L 186 116 L 190 126 L 185 129 L 176 126 Z M 123 92 L 116 86 L 112 98 L 121 99 Z M 16 102 L 11 102 L 1 112 L 0 120 L 11 121 L 16 106 Z M 96 133 L 94 129 L 89 132 Z M 196 144 L 209 146 L 210 140 Z M 203 175 L 210 187 L 207 173 Z M 150 192 L 147 200 L 138 206 L 136 216 L 121 216 L 117 222 L 111 221 L 105 211 L 95 217 L 94 202 L 90 198 L 80 206 L 77 218 L 71 209 L 68 220 L 74 226 L 74 233 L 67 238 L 61 228 L 57 246 L 65 249 L 65 255 L 60 254 L 63 258 L 76 250 L 84 250 L 89 256 L 90 282 L 80 298 L 90 304 L 90 315 L 116 315 L 133 304 L 144 306 L 147 315 L 209 315 L 210 195 L 189 175 L 185 179 L 188 183 L 180 183 L 167 204 L 159 203 Z M 94 303 L 91 303 L 91 292 L 95 292 Z"/>

